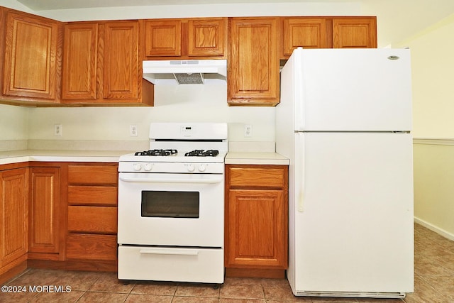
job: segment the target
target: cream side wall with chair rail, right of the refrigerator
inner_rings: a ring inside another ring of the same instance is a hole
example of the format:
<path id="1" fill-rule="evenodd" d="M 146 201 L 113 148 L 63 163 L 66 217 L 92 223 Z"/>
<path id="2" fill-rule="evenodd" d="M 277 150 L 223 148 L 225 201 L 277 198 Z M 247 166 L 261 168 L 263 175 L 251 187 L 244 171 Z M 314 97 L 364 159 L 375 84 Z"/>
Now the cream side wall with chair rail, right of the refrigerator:
<path id="1" fill-rule="evenodd" d="M 454 239 L 454 15 L 399 43 L 411 48 L 415 220 Z"/>

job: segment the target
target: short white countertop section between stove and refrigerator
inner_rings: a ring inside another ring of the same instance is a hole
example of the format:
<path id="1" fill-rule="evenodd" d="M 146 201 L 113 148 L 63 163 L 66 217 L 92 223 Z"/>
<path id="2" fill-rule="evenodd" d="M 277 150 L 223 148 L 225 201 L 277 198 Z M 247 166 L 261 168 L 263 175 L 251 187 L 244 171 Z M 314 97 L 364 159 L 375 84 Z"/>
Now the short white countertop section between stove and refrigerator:
<path id="1" fill-rule="evenodd" d="M 226 164 L 289 165 L 290 160 L 272 152 L 228 152 Z"/>

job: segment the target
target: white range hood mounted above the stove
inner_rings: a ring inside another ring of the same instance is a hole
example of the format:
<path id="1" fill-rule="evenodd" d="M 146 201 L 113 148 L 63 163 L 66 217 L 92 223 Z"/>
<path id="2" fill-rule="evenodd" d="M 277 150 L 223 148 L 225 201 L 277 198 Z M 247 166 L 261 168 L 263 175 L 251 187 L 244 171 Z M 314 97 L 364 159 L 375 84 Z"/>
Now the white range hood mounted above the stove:
<path id="1" fill-rule="evenodd" d="M 146 60 L 143 79 L 153 84 L 225 83 L 227 60 Z"/>

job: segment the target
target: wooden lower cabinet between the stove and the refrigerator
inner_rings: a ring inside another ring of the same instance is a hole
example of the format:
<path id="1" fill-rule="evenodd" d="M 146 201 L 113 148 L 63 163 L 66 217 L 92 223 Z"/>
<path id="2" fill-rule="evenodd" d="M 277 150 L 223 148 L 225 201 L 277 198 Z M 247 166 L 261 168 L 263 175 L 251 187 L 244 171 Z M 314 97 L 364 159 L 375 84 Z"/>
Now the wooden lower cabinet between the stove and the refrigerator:
<path id="1" fill-rule="evenodd" d="M 226 275 L 284 277 L 287 195 L 287 165 L 226 165 Z"/>

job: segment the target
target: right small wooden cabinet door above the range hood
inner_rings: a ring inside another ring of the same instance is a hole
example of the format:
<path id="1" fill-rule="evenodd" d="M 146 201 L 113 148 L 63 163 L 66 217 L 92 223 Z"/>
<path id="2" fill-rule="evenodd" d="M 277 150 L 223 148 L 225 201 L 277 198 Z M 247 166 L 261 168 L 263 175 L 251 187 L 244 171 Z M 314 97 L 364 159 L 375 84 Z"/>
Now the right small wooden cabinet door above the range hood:
<path id="1" fill-rule="evenodd" d="M 190 19 L 188 21 L 189 56 L 223 56 L 227 18 Z"/>

